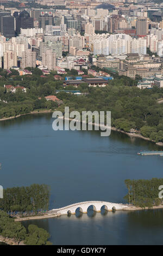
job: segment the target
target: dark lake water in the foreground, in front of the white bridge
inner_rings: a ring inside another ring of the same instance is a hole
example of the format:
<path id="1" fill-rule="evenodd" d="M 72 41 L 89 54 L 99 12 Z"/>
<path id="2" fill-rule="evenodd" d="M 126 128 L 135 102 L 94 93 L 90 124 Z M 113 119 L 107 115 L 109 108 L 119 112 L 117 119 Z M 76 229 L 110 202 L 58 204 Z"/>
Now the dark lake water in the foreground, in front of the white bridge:
<path id="1" fill-rule="evenodd" d="M 162 213 L 141 210 L 103 214 L 90 210 L 87 214 L 23 223 L 26 227 L 31 223 L 46 227 L 55 245 L 162 245 Z"/>

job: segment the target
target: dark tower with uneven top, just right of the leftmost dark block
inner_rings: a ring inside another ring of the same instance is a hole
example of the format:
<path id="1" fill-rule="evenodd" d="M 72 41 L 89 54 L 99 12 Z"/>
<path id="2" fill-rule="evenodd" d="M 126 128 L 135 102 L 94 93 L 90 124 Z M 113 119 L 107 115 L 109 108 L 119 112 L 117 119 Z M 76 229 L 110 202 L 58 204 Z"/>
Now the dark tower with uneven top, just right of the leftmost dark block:
<path id="1" fill-rule="evenodd" d="M 30 17 L 29 13 L 25 10 L 21 11 L 20 15 L 14 14 L 16 20 L 16 34 L 20 34 L 21 28 L 33 28 L 34 19 Z"/>

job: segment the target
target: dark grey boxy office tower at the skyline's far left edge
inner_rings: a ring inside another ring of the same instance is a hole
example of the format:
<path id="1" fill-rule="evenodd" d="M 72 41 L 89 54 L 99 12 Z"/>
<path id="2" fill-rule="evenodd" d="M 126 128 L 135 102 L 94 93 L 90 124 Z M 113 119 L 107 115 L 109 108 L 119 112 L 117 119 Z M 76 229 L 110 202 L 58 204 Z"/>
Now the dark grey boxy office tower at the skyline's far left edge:
<path id="1" fill-rule="evenodd" d="M 15 22 L 13 16 L 1 16 L 1 35 L 4 35 L 5 38 L 12 38 L 15 36 Z"/>

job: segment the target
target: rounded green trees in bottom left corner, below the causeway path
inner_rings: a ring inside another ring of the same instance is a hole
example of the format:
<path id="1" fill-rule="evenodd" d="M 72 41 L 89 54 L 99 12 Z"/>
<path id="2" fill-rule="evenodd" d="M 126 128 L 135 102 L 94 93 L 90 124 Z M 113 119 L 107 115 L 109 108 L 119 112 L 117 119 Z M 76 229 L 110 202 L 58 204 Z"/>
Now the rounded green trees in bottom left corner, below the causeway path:
<path id="1" fill-rule="evenodd" d="M 26 245 L 51 245 L 48 241 L 50 235 L 45 229 L 29 225 L 26 230 L 21 222 L 15 222 L 14 218 L 2 210 L 0 210 L 0 234 L 17 243 L 23 241 Z"/>

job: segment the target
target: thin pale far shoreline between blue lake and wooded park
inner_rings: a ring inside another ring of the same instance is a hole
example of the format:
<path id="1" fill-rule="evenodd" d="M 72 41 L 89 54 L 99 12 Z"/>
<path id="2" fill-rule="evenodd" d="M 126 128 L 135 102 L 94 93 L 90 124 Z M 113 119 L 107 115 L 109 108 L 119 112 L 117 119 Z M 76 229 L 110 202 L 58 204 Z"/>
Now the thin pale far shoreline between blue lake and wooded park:
<path id="1" fill-rule="evenodd" d="M 23 116 L 23 115 L 29 115 L 29 114 L 43 114 L 43 113 L 46 114 L 46 113 L 52 113 L 52 112 L 54 112 L 54 110 L 52 110 L 52 109 L 45 110 L 45 111 L 44 111 L 44 110 L 41 110 L 41 111 L 32 111 L 32 112 L 30 112 L 30 113 L 19 114 L 19 115 L 16 115 L 16 116 L 14 116 L 14 117 L 2 118 L 2 119 L 0 119 L 0 121 L 15 119 L 15 118 L 21 117 L 21 116 Z M 64 119 L 65 119 L 65 118 L 64 118 Z M 66 119 L 67 119 L 67 120 L 73 120 L 72 118 L 66 118 Z M 99 124 L 95 124 L 95 123 L 92 123 L 92 125 L 94 125 L 94 126 L 95 126 L 95 125 L 100 126 Z M 106 127 L 106 129 L 107 129 L 107 126 L 106 126 L 106 125 L 103 125 L 103 127 Z M 108 127 L 108 129 L 109 129 L 109 127 Z M 122 131 L 122 130 L 120 130 L 120 129 L 117 129 L 116 127 L 113 127 L 113 126 L 111 126 L 111 130 L 112 130 L 112 131 L 121 132 L 121 133 L 123 133 L 123 134 L 128 135 L 129 137 L 144 139 L 145 141 L 150 141 L 150 142 L 153 142 L 153 143 L 155 143 L 156 145 L 158 145 L 158 146 L 160 146 L 160 147 L 163 147 L 163 143 L 162 143 L 162 142 L 156 143 L 156 142 L 154 142 L 152 139 L 149 139 L 149 138 L 147 138 L 147 137 L 144 137 L 144 136 L 142 136 L 142 135 L 140 135 L 140 134 L 125 132 L 125 131 Z"/>

